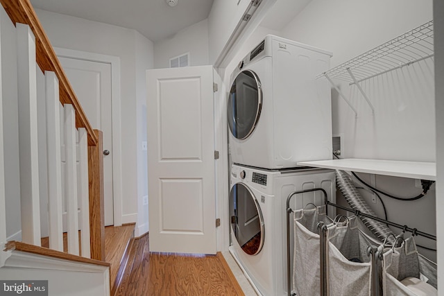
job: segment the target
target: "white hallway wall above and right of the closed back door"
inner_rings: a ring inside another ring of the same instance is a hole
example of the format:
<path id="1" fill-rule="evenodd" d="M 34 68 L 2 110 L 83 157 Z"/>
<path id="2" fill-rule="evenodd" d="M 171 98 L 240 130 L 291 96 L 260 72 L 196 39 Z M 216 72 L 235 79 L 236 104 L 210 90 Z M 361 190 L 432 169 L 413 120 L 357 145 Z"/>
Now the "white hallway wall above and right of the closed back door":
<path id="1" fill-rule="evenodd" d="M 60 15 L 45 10 L 36 10 L 37 16 L 56 47 L 114 55 L 121 62 L 121 176 L 122 176 L 122 222 L 137 220 L 138 176 L 137 150 L 137 102 L 143 94 L 138 91 L 140 69 L 149 62 L 137 65 L 143 55 L 152 58 L 152 42 L 133 29 L 88 21 L 77 17 Z M 143 42 L 142 42 L 143 40 Z M 151 55 L 151 56 L 150 56 Z M 152 64 L 151 64 L 152 65 Z"/>

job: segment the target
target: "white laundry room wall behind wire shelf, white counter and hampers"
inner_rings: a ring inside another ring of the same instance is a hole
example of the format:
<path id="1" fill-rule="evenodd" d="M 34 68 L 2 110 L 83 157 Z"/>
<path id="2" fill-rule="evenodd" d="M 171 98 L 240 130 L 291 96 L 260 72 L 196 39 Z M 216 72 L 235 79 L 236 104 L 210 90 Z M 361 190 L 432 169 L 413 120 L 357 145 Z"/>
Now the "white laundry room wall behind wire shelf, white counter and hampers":
<path id="1" fill-rule="evenodd" d="M 432 0 L 313 0 L 281 35 L 332 51 L 334 67 L 431 19 Z M 433 60 L 429 59 L 367 80 L 363 88 L 375 106 L 374 115 L 355 86 L 337 81 L 358 112 L 355 118 L 350 107 L 332 91 L 333 134 L 344 138 L 341 156 L 434 162 L 433 78 Z M 368 175 L 363 178 L 369 180 Z M 421 192 L 414 180 L 398 177 L 376 176 L 376 186 L 401 197 Z M 382 216 L 380 202 L 372 204 L 368 193 L 362 195 Z M 422 200 L 384 201 L 389 220 L 436 233 L 434 186 Z M 417 241 L 434 247 L 433 241 Z M 435 259 L 435 254 L 424 253 Z"/>

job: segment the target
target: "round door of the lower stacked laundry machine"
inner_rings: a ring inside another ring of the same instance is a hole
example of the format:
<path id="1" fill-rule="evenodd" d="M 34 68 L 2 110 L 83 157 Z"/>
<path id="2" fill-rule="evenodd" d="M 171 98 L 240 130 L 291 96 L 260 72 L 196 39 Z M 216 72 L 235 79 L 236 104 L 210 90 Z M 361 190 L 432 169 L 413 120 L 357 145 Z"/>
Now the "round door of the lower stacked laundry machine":
<path id="1" fill-rule="evenodd" d="M 230 191 L 231 231 L 242 250 L 258 254 L 264 245 L 264 220 L 253 193 L 243 183 L 234 184 Z"/>

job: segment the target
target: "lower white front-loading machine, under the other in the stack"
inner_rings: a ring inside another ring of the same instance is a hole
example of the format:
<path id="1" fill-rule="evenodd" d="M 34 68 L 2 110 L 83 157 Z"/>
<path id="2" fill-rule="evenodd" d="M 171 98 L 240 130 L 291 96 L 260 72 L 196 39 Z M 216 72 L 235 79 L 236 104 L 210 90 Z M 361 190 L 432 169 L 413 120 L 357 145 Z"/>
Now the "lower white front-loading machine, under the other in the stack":
<path id="1" fill-rule="evenodd" d="M 336 202 L 332 170 L 264 170 L 232 165 L 230 181 L 230 253 L 251 284 L 264 296 L 287 295 L 286 202 L 293 191 L 322 188 Z M 298 194 L 293 209 L 323 204 L 320 191 Z M 336 211 L 328 209 L 330 216 Z M 291 240 L 292 241 L 292 240 Z"/>

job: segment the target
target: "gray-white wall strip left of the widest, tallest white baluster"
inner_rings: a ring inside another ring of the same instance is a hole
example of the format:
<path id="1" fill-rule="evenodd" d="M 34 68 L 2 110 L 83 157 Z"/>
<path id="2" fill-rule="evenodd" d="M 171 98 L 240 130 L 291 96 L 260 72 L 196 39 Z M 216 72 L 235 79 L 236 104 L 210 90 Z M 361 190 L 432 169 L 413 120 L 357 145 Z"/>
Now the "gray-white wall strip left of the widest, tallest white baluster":
<path id="1" fill-rule="evenodd" d="M 22 239 L 20 216 L 19 126 L 17 98 L 17 35 L 3 7 L 1 19 L 1 92 L 3 95 L 3 153 L 5 165 L 6 237 Z"/>

